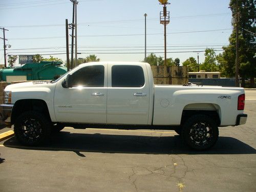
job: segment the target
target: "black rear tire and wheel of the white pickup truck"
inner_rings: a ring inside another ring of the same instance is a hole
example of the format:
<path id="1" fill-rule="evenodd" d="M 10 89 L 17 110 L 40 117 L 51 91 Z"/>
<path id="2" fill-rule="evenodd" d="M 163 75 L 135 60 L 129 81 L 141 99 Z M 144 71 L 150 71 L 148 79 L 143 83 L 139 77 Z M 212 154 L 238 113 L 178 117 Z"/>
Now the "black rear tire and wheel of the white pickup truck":
<path id="1" fill-rule="evenodd" d="M 214 120 L 206 115 L 194 115 L 182 127 L 183 141 L 197 151 L 214 146 L 219 137 L 219 129 Z"/>

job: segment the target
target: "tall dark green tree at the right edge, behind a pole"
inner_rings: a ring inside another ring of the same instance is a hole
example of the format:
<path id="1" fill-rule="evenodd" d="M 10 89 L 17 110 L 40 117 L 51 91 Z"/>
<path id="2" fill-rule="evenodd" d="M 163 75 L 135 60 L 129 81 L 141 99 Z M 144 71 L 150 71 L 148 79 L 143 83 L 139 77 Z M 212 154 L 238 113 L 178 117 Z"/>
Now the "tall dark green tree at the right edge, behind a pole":
<path id="1" fill-rule="evenodd" d="M 256 76 L 256 9 L 254 0 L 230 1 L 230 8 L 233 18 L 239 14 L 239 75 L 244 78 L 250 77 L 251 87 L 254 87 L 254 77 Z M 220 63 L 222 73 L 227 77 L 234 77 L 236 69 L 236 23 L 232 23 L 234 29 L 229 37 L 229 45 L 223 47 L 224 52 L 219 54 L 217 59 Z"/>

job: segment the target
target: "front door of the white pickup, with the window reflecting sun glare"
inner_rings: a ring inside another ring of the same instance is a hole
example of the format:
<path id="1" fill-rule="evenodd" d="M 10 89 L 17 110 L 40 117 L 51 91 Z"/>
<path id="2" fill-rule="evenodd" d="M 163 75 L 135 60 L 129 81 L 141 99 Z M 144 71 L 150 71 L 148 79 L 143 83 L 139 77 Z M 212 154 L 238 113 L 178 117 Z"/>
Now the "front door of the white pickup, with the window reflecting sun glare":
<path id="1" fill-rule="evenodd" d="M 92 65 L 72 75 L 72 88 L 57 82 L 54 110 L 58 122 L 106 123 L 107 66 Z"/>

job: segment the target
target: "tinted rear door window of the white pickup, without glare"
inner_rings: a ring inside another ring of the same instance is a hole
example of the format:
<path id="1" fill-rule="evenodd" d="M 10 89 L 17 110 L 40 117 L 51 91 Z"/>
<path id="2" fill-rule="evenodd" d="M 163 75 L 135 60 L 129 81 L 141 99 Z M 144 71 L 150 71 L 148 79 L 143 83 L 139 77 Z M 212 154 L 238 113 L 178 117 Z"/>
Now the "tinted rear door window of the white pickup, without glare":
<path id="1" fill-rule="evenodd" d="M 140 88 L 144 84 L 144 73 L 140 66 L 112 67 L 112 87 Z"/>

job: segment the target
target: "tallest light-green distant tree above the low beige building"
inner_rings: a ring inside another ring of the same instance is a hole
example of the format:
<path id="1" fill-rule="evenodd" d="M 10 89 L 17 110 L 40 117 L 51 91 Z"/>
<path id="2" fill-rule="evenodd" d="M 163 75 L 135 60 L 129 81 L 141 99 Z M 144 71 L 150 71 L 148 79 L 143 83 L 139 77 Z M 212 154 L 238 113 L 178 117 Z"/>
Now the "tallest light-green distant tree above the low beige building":
<path id="1" fill-rule="evenodd" d="M 203 64 L 200 66 L 200 69 L 206 72 L 219 71 L 219 67 L 217 66 L 216 53 L 214 49 L 205 49 L 204 55 L 205 60 Z"/>

